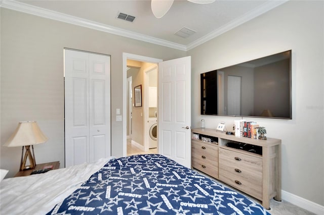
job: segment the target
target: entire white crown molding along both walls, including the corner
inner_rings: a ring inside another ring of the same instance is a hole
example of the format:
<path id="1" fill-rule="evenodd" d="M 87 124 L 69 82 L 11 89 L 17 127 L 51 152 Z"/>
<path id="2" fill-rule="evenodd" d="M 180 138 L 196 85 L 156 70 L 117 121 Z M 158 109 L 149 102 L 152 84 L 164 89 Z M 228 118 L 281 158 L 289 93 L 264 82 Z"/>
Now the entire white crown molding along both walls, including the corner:
<path id="1" fill-rule="evenodd" d="M 124 37 L 128 37 L 128 38 L 136 39 L 136 40 L 141 40 L 144 42 L 149 42 L 149 43 L 153 43 L 153 44 L 157 44 L 157 45 L 175 48 L 175 49 L 179 49 L 182 51 L 188 51 L 188 50 L 190 50 L 194 47 L 197 47 L 198 45 L 201 45 L 201 44 L 227 32 L 227 31 L 245 23 L 245 22 L 248 22 L 251 19 L 254 19 L 254 18 L 260 16 L 261 14 L 266 13 L 267 11 L 269 11 L 281 4 L 288 2 L 288 1 L 289 0 L 269 1 L 266 4 L 260 6 L 259 8 L 253 10 L 252 12 L 245 14 L 244 16 L 242 16 L 236 20 L 233 20 L 232 22 L 222 26 L 221 28 L 219 28 L 215 31 L 212 31 L 211 33 L 207 34 L 206 36 L 203 36 L 203 37 L 195 40 L 194 42 L 190 43 L 189 45 L 182 45 L 179 43 L 170 42 L 167 40 L 159 39 L 156 37 L 151 37 L 151 36 L 136 33 L 133 31 L 116 28 L 116 27 L 113 27 L 110 25 L 104 25 L 102 23 L 93 22 L 90 20 L 70 16 L 67 14 L 47 10 L 44 8 L 31 6 L 28 4 L 21 3 L 21 2 L 1 1 L 0 7 L 27 13 L 27 14 L 31 14 L 31 15 L 35 15 L 35 16 L 39 16 L 39 17 L 43 17 L 43 18 L 47 18 L 47 19 L 52 19 L 52 20 L 56 20 L 56 21 L 60 21 L 60 22 L 65 22 L 65 23 L 69 23 L 69 24 L 73 24 L 73 25 L 91 28 L 91 29 L 98 30 L 98 31 L 116 34 L 119 36 L 124 36 Z"/>

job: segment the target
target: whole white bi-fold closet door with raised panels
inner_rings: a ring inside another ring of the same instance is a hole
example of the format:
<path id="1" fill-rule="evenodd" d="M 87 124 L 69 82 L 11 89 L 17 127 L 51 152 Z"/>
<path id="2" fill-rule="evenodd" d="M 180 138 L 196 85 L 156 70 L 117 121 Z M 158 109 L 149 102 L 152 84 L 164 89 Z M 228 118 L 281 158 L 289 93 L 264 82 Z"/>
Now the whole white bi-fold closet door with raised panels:
<path id="1" fill-rule="evenodd" d="M 64 49 L 65 167 L 110 156 L 110 56 Z"/>

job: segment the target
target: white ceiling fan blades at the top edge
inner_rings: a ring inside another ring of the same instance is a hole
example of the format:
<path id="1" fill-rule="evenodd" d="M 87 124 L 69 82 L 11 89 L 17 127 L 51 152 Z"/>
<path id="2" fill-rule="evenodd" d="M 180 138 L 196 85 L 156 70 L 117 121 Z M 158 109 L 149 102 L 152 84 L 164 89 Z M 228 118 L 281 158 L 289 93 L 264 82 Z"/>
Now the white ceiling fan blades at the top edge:
<path id="1" fill-rule="evenodd" d="M 210 4 L 215 0 L 187 0 L 196 4 Z M 162 18 L 170 10 L 174 0 L 151 0 L 151 9 L 156 18 Z"/>

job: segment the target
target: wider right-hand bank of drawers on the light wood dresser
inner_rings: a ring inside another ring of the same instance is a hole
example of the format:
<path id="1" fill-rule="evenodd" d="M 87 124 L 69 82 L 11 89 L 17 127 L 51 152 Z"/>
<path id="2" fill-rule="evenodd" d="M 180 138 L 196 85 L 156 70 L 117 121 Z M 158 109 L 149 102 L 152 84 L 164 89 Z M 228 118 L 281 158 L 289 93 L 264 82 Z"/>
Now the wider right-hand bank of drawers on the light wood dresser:
<path id="1" fill-rule="evenodd" d="M 262 199 L 262 158 L 219 149 L 219 179 Z"/>

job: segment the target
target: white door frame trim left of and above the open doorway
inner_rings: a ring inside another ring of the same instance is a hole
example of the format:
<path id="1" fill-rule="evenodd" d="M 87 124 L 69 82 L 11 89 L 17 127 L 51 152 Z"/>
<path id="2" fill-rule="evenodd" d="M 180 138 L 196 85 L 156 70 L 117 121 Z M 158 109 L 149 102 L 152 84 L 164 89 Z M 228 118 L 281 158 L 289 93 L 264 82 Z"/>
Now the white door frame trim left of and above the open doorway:
<path id="1" fill-rule="evenodd" d="M 161 59 L 123 52 L 123 156 L 127 156 L 127 60 L 144 61 L 155 64 L 163 61 Z"/>

